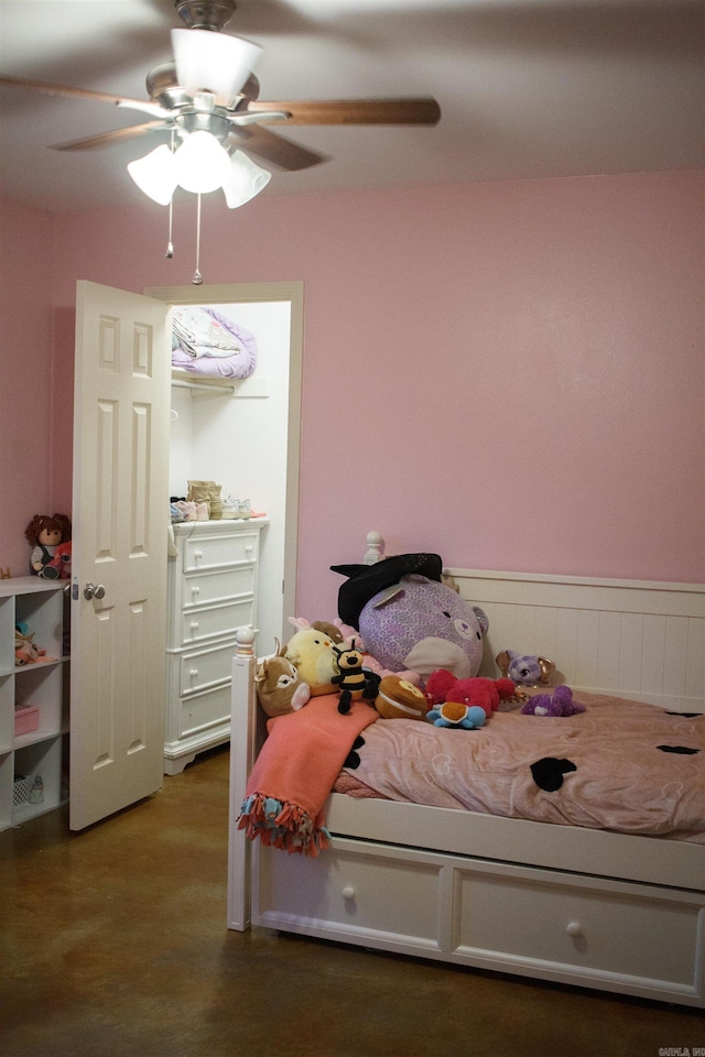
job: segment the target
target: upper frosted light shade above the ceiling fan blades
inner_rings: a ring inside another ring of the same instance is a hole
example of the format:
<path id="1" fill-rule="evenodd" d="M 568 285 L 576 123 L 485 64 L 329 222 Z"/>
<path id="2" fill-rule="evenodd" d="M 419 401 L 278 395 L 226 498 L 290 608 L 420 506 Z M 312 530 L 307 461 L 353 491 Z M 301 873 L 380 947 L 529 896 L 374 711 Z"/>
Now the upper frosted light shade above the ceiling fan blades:
<path id="1" fill-rule="evenodd" d="M 213 91 L 218 98 L 237 96 L 262 48 L 251 41 L 213 30 L 172 30 L 176 77 L 189 94 Z"/>

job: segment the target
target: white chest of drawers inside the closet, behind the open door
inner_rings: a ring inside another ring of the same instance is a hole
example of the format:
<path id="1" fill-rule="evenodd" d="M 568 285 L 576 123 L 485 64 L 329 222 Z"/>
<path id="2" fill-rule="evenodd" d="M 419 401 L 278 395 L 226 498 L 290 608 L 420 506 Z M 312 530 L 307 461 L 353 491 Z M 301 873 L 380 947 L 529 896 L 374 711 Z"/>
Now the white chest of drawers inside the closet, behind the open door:
<path id="1" fill-rule="evenodd" d="M 264 517 L 174 525 L 169 559 L 164 773 L 230 738 L 230 673 L 238 628 L 257 631 Z"/>

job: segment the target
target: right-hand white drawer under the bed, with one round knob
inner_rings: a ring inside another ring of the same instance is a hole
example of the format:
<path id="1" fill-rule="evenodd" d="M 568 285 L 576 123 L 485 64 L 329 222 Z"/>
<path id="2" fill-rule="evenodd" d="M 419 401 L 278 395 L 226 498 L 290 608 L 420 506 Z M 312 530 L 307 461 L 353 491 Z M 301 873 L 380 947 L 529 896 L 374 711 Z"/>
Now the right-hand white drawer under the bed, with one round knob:
<path id="1" fill-rule="evenodd" d="M 522 868 L 457 868 L 458 955 L 497 968 L 663 981 L 693 988 L 705 897 Z M 698 923 L 699 918 L 699 923 Z"/>

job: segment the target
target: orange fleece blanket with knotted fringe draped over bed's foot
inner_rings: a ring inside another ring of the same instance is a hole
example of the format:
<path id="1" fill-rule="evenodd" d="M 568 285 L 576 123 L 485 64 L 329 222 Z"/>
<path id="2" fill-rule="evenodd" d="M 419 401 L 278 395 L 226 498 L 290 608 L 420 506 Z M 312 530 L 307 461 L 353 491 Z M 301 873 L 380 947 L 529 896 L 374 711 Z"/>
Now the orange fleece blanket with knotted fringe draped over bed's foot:
<path id="1" fill-rule="evenodd" d="M 367 701 L 338 712 L 339 694 L 313 697 L 300 711 L 267 723 L 238 829 L 250 840 L 303 856 L 328 847 L 323 808 L 361 732 L 378 718 Z"/>

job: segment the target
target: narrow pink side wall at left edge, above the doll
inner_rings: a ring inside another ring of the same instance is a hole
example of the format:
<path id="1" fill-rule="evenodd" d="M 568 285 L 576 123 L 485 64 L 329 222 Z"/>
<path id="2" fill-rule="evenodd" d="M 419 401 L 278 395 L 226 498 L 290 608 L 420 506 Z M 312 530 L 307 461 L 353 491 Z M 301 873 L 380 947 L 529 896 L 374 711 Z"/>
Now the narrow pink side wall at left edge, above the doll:
<path id="1" fill-rule="evenodd" d="M 26 576 L 24 530 L 34 514 L 54 513 L 54 224 L 46 213 L 0 199 L 0 568 Z"/>

